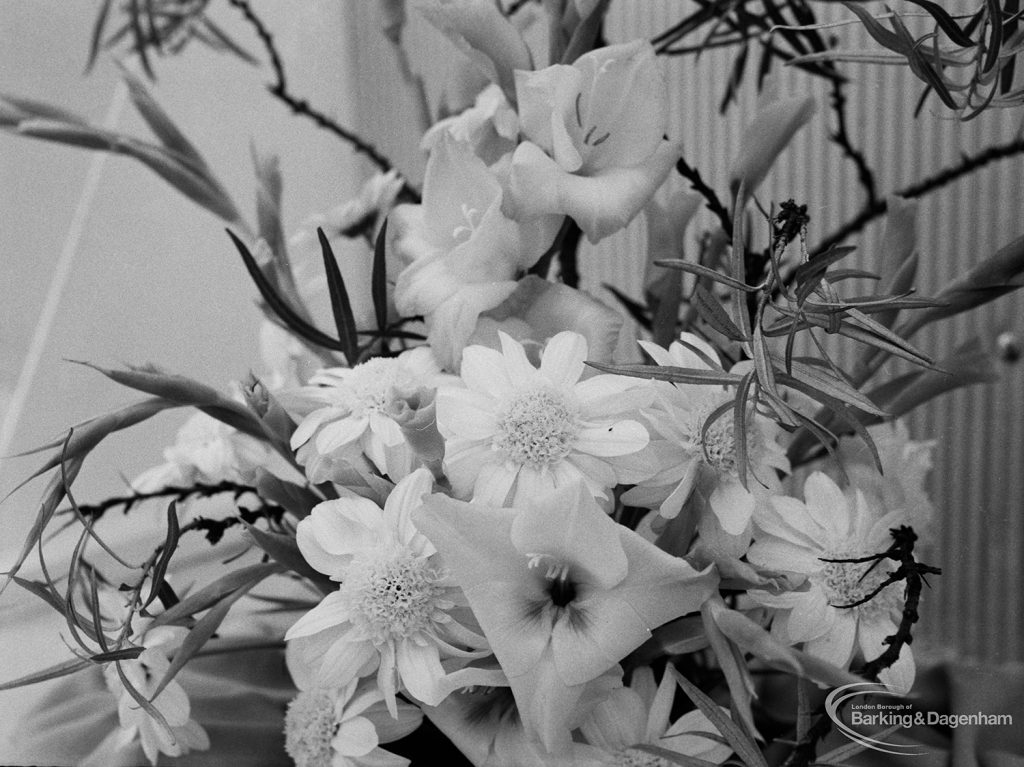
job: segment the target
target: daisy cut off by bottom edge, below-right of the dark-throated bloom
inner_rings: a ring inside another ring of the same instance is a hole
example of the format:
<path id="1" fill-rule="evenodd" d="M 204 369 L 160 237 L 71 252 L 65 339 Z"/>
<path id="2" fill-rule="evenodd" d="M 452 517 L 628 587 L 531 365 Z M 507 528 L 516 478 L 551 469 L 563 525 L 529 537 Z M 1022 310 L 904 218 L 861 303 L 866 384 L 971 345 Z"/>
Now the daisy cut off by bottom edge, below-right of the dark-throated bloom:
<path id="1" fill-rule="evenodd" d="M 654 674 L 647 667 L 633 672 L 629 687 L 620 687 L 600 704 L 581 726 L 587 742 L 594 747 L 588 764 L 606 767 L 669 767 L 668 759 L 641 751 L 639 745 L 695 757 L 721 764 L 732 749 L 719 740 L 718 728 L 699 710 L 684 714 L 670 724 L 676 683 L 666 673 L 654 684 Z M 722 709 L 728 716 L 729 712 Z M 709 737 L 709 735 L 711 737 Z"/>

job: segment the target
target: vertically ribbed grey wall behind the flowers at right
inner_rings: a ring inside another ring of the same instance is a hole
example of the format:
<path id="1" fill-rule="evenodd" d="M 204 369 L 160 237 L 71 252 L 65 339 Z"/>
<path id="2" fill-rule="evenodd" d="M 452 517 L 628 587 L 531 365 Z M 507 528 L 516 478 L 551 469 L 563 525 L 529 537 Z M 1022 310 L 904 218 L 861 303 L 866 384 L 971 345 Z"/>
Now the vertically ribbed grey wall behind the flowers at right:
<path id="1" fill-rule="evenodd" d="M 954 10 L 973 3 L 944 5 Z M 689 7 L 686 0 L 613 3 L 607 36 L 612 42 L 650 37 L 679 20 Z M 816 8 L 822 15 L 843 12 L 826 3 Z M 392 80 L 389 75 L 396 72 L 381 59 L 375 12 L 360 8 L 364 125 L 385 148 L 399 153 L 404 167 L 422 167 L 422 159 L 411 157 L 408 148 L 415 143 L 415 110 L 408 97 L 403 102 L 387 85 Z M 835 34 L 845 47 L 868 44 L 859 27 L 837 29 Z M 415 46 L 418 69 L 439 73 L 451 66 L 450 49 L 417 19 L 408 38 Z M 738 103 L 724 117 L 719 115 L 731 55 L 713 50 L 699 59 L 664 61 L 675 135 L 684 139 L 688 162 L 723 197 L 730 160 L 757 101 L 753 79 L 749 79 L 740 88 Z M 854 80 L 848 89 L 849 130 L 874 168 L 882 195 L 955 164 L 965 153 L 1011 139 L 1024 114 L 993 111 L 964 124 L 933 99 L 913 119 L 922 87 L 908 72 L 878 67 L 849 72 Z M 827 140 L 834 117 L 826 85 L 797 70 L 783 70 L 777 73 L 777 87 L 784 95 L 815 94 L 819 109 L 780 158 L 759 197 L 765 203 L 790 198 L 806 202 L 813 217 L 813 243 L 859 210 L 864 196 L 852 164 Z M 919 288 L 923 294 L 937 292 L 970 264 L 1024 232 L 1022 178 L 1024 159 L 1018 157 L 922 199 Z M 703 225 L 711 225 L 711 219 L 698 221 L 691 232 Z M 862 265 L 874 267 L 884 257 L 877 250 L 880 238 L 881 226 L 874 225 L 853 242 L 858 246 L 854 257 L 862 259 Z M 613 283 L 638 294 L 642 244 L 639 226 L 634 225 L 606 240 L 596 252 L 588 252 L 584 263 L 587 286 L 599 292 L 602 283 Z M 916 341 L 939 358 L 972 336 L 985 344 L 991 344 L 1001 331 L 1018 332 L 1024 338 L 1021 306 L 1020 298 L 1005 298 L 969 317 L 923 333 Z M 938 439 L 931 489 L 940 529 L 926 556 L 944 572 L 926 595 L 925 628 L 915 645 L 919 651 L 950 647 L 978 659 L 1024 658 L 1024 609 L 1018 593 L 1024 578 L 1024 374 L 1021 367 L 1013 366 L 1005 367 L 1002 374 L 999 383 L 948 395 L 910 420 L 914 436 Z"/>

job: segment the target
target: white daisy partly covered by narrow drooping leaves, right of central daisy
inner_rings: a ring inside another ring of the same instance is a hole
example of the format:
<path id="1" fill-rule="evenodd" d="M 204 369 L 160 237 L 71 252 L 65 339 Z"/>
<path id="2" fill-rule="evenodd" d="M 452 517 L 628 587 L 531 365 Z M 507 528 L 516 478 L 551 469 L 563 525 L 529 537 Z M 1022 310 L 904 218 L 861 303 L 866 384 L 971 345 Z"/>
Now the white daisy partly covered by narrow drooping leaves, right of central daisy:
<path id="1" fill-rule="evenodd" d="M 640 345 L 659 366 L 711 370 L 718 354 L 707 342 L 689 333 L 668 350 L 641 341 Z M 709 496 L 709 505 L 722 528 L 739 536 L 748 527 L 759 500 L 768 497 L 765 486 L 777 484 L 776 470 L 787 472 L 790 462 L 778 443 L 779 427 L 756 412 L 746 418 L 746 487 L 739 479 L 739 459 L 732 414 L 705 425 L 715 411 L 735 397 L 729 387 L 655 382 L 655 403 L 646 411 L 654 432 L 652 452 L 660 459 L 660 470 L 626 494 L 626 503 L 657 509 L 674 518 L 698 485 Z"/>

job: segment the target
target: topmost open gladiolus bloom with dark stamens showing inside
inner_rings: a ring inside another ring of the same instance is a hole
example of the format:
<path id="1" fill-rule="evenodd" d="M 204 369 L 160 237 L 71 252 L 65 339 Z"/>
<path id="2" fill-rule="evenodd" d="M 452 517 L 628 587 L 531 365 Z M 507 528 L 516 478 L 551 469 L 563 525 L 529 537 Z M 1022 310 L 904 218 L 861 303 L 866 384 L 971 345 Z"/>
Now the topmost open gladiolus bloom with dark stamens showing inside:
<path id="1" fill-rule="evenodd" d="M 518 220 L 568 215 L 596 243 L 640 212 L 679 156 L 645 41 L 516 72 L 516 93 L 527 140 L 512 157 L 505 209 Z"/>

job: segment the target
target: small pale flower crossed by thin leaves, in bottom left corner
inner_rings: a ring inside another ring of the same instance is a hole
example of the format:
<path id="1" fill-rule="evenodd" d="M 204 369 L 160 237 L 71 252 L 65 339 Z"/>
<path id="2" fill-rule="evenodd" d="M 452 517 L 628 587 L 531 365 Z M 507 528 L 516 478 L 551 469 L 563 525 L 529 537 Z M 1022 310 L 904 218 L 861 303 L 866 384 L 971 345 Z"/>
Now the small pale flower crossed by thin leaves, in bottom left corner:
<path id="1" fill-rule="evenodd" d="M 146 758 L 154 765 L 161 754 L 179 757 L 193 749 L 204 751 L 210 748 L 210 738 L 196 720 L 189 718 L 188 695 L 176 681 L 171 681 L 156 698 L 153 693 L 170 669 L 168 652 L 176 647 L 184 630 L 161 627 L 144 636 L 146 648 L 133 659 L 110 664 L 103 669 L 108 688 L 118 695 L 118 720 L 121 731 L 114 743 L 122 749 L 138 740 Z M 138 705 L 128 691 L 121 673 L 128 683 L 144 698 L 150 700 L 167 723 L 158 722 Z"/>

